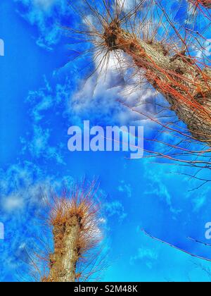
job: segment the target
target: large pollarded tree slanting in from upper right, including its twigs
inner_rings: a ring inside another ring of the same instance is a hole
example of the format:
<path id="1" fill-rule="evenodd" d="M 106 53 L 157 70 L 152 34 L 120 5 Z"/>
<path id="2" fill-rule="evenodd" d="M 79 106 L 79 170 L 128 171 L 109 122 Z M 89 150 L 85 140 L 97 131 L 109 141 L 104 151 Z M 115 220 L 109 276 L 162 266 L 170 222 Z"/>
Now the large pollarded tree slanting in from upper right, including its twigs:
<path id="1" fill-rule="evenodd" d="M 210 169 L 210 14 L 207 9 L 210 1 L 200 1 L 201 5 L 192 0 L 170 4 L 165 0 L 82 2 L 87 6 L 87 14 L 82 13 L 82 26 L 75 33 L 80 42 L 85 39 L 94 45 L 92 52 L 94 61 L 98 61 L 98 73 L 105 70 L 109 57 L 115 56 L 120 70 L 127 69 L 136 77 L 134 89 L 141 88 L 144 79 L 148 87 L 165 98 L 165 101 L 153 101 L 157 113 L 140 111 L 128 101 L 122 102 L 157 124 L 159 135 L 165 135 L 146 140 L 154 143 L 146 149 L 149 156 Z M 187 16 L 181 21 L 175 17 L 178 13 L 174 9 L 184 3 Z M 91 49 L 87 54 L 91 54 Z"/>

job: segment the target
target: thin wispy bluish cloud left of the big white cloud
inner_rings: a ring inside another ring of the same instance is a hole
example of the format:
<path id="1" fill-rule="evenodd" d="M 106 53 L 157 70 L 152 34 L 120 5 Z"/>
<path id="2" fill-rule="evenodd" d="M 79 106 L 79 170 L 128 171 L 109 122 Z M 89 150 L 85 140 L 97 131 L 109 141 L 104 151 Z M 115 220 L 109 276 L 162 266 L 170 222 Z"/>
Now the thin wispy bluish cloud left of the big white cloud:
<path id="1" fill-rule="evenodd" d="M 61 142 L 60 137 L 58 137 L 58 143 L 55 144 L 53 134 L 55 125 L 52 125 L 51 122 L 55 123 L 58 114 L 63 116 L 63 112 L 55 112 L 52 109 L 66 106 L 70 99 L 69 84 L 65 80 L 67 83 L 64 83 L 64 85 L 58 83 L 55 87 L 51 87 L 46 79 L 44 79 L 44 82 L 45 86 L 37 91 L 30 91 L 26 100 L 32 132 L 20 139 L 23 144 L 22 152 L 30 152 L 32 157 L 37 159 L 42 157 L 42 159 L 51 159 L 56 161 L 57 164 L 65 165 L 62 153 L 65 143 Z M 48 113 L 47 117 L 46 113 Z M 51 116 L 53 121 L 50 120 Z M 60 119 L 58 120 L 60 121 Z"/>

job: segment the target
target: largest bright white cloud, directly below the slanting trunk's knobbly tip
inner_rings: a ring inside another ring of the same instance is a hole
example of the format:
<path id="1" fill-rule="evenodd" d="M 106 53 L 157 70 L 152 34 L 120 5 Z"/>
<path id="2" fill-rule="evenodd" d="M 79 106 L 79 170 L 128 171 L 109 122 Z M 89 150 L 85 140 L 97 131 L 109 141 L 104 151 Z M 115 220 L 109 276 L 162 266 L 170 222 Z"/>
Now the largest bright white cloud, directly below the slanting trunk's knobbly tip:
<path id="1" fill-rule="evenodd" d="M 121 125 L 140 120 L 141 116 L 120 104 L 120 100 L 130 106 L 139 105 L 137 109 L 143 113 L 148 112 L 148 109 L 153 112 L 155 105 L 144 103 L 153 100 L 156 94 L 150 87 L 148 90 L 146 86 L 141 87 L 143 75 L 137 73 L 131 77 L 128 61 L 121 53 L 120 60 L 111 53 L 108 63 L 98 68 L 102 57 L 103 54 L 95 62 L 96 73 L 72 97 L 70 111 L 83 119 L 91 116 L 98 120 L 103 118 L 106 123 Z"/>

